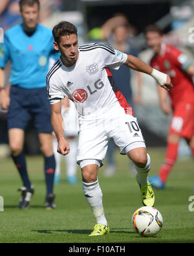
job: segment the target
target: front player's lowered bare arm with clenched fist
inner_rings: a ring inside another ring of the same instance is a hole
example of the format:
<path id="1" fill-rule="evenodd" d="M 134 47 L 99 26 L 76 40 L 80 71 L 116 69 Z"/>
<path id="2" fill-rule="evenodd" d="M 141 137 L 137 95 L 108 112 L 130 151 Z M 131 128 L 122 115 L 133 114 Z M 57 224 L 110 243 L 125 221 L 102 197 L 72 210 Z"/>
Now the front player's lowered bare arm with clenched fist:
<path id="1" fill-rule="evenodd" d="M 58 153 L 63 156 L 69 153 L 69 143 L 64 137 L 63 118 L 61 116 L 61 100 L 50 105 L 52 128 L 58 140 Z"/>

